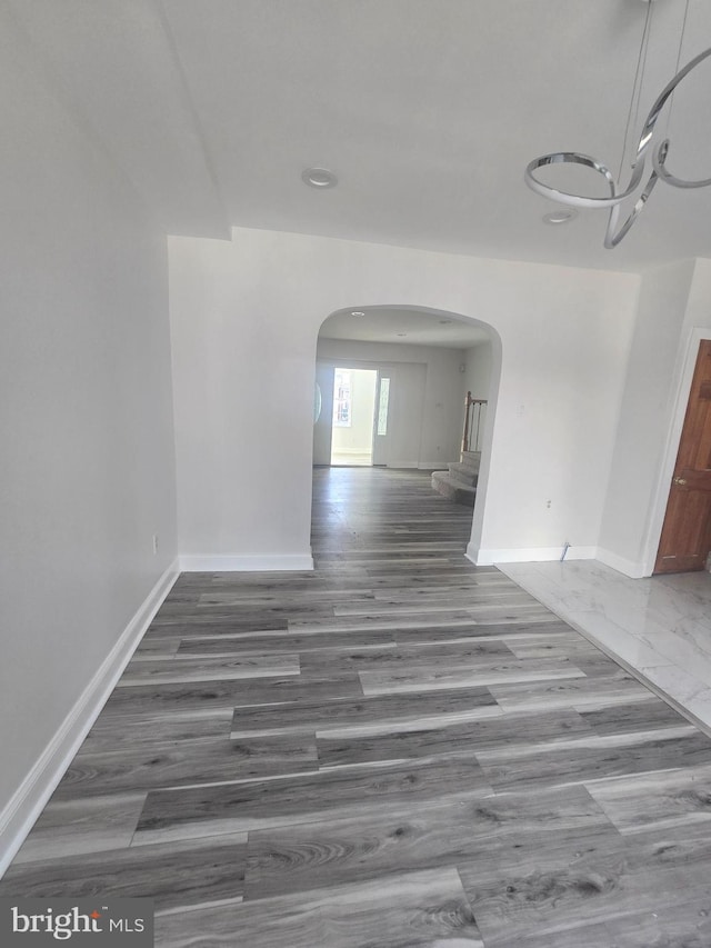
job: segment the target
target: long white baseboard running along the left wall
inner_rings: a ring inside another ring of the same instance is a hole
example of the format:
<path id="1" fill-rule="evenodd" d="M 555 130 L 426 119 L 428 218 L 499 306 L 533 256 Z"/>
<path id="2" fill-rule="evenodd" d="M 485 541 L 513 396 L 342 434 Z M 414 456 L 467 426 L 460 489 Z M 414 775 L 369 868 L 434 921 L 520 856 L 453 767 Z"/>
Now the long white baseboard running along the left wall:
<path id="1" fill-rule="evenodd" d="M 0 812 L 0 877 L 54 792 L 178 575 L 176 560 L 148 593 L 54 737 Z"/>

